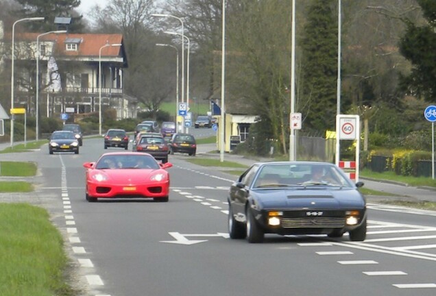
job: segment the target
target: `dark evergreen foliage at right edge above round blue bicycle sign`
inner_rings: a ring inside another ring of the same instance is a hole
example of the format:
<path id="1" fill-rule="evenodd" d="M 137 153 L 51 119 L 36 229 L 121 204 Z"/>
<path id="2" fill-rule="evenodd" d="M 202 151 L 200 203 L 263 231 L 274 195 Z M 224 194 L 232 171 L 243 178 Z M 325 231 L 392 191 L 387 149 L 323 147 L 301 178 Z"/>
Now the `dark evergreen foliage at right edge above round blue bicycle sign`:
<path id="1" fill-rule="evenodd" d="M 407 32 L 400 40 L 400 53 L 412 64 L 409 75 L 400 77 L 403 90 L 426 101 L 436 99 L 436 1 L 417 0 L 426 24 L 415 25 L 409 19 Z"/>

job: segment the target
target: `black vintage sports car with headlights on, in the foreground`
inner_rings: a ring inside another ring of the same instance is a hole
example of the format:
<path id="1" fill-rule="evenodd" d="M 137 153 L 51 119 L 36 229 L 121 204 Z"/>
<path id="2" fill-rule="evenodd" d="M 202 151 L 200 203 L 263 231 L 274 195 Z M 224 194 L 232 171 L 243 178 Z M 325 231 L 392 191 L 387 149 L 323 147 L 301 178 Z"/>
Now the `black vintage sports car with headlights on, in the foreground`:
<path id="1" fill-rule="evenodd" d="M 327 162 L 253 164 L 230 186 L 230 238 L 261 243 L 267 233 L 341 237 L 348 232 L 350 240 L 365 240 L 366 201 L 357 190 L 361 186 Z"/>

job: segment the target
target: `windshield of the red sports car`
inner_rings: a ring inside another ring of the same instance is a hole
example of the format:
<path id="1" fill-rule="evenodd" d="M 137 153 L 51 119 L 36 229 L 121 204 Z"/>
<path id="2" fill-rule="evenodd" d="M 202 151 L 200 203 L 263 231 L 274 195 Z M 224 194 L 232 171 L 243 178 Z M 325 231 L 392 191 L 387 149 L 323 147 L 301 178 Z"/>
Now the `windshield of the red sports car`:
<path id="1" fill-rule="evenodd" d="M 102 156 L 95 169 L 160 169 L 160 165 L 152 156 L 126 154 Z"/>

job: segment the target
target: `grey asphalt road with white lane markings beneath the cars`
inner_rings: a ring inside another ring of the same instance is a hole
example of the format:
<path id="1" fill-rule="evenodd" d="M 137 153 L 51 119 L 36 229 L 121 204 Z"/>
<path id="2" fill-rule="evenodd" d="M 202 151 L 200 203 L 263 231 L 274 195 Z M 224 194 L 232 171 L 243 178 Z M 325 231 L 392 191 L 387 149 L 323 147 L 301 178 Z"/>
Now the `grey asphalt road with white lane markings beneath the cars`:
<path id="1" fill-rule="evenodd" d="M 227 235 L 226 193 L 235 177 L 189 164 L 186 155 L 170 157 L 168 203 L 88 203 L 82 163 L 112 150 L 85 139 L 79 155 L 50 156 L 45 146 L 1 156 L 38 162 L 36 193 L 0 201 L 51 212 L 86 296 L 436 294 L 436 212 L 370 203 L 365 242 L 267 235 L 252 245 Z"/>

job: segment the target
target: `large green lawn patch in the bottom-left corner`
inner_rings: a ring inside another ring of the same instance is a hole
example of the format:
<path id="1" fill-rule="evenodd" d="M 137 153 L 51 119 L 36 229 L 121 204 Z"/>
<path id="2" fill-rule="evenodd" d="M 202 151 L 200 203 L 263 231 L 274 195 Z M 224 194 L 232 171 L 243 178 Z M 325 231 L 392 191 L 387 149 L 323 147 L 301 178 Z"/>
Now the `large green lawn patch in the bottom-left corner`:
<path id="1" fill-rule="evenodd" d="M 0 204 L 0 295 L 77 295 L 66 284 L 69 260 L 43 208 Z"/>

